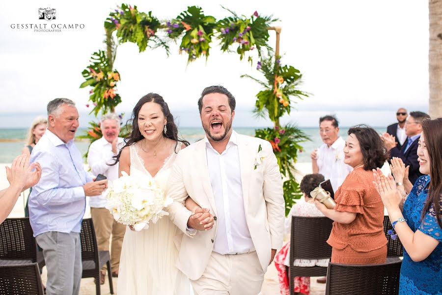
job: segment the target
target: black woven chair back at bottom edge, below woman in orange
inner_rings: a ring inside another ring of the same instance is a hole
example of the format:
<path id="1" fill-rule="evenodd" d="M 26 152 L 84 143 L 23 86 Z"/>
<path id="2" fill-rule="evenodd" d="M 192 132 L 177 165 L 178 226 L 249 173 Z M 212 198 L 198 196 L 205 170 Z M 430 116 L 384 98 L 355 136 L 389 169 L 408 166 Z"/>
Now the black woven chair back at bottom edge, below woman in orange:
<path id="1" fill-rule="evenodd" d="M 329 263 L 326 295 L 399 294 L 402 261 L 377 265 Z"/>

